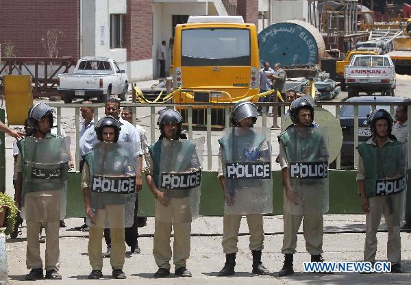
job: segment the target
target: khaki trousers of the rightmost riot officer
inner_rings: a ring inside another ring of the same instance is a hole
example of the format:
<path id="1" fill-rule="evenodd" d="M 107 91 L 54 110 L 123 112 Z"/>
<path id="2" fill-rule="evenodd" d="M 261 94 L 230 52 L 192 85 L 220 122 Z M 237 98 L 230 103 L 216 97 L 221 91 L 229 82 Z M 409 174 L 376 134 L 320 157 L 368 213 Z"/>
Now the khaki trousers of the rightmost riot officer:
<path id="1" fill-rule="evenodd" d="M 366 235 L 364 261 L 375 262 L 377 253 L 377 230 L 384 214 L 388 228 L 387 259 L 401 264 L 400 223 L 403 212 L 404 193 L 387 196 L 369 197 L 370 210 L 366 214 Z"/>

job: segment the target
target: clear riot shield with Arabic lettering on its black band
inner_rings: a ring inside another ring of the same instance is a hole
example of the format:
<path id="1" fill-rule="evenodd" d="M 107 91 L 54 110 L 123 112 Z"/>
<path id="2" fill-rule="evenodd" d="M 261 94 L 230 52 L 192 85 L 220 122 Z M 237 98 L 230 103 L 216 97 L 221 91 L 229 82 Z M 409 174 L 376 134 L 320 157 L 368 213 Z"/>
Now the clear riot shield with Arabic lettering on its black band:
<path id="1" fill-rule="evenodd" d="M 24 139 L 21 217 L 60 221 L 66 215 L 70 138 Z"/>

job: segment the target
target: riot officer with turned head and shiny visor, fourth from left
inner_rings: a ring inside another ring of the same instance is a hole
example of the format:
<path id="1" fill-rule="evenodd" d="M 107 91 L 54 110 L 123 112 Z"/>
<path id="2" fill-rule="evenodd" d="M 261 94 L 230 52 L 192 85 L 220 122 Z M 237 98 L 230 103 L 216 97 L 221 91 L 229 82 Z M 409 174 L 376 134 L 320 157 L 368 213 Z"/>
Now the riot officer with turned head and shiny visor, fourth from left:
<path id="1" fill-rule="evenodd" d="M 245 214 L 253 255 L 252 272 L 269 275 L 261 262 L 264 248 L 264 213 L 273 212 L 270 130 L 253 128 L 258 117 L 256 106 L 239 101 L 230 115 L 232 128 L 219 139 L 219 181 L 225 192 L 223 251 L 225 264 L 220 276 L 233 275 L 238 252 L 238 230 Z M 260 173 L 257 173 L 260 170 Z M 247 176 L 244 173 L 247 172 Z"/>

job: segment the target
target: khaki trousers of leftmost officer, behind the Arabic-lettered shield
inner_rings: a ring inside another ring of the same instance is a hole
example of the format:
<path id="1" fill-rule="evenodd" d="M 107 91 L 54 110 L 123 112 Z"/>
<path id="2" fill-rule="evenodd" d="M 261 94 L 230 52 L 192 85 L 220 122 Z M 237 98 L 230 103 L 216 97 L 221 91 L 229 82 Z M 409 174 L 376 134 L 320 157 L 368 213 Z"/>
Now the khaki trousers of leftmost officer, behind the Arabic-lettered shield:
<path id="1" fill-rule="evenodd" d="M 60 195 L 55 195 L 55 192 L 25 193 L 23 207 L 27 225 L 27 269 L 43 267 L 38 241 L 38 232 L 42 223 L 46 230 L 45 269 L 58 270 L 59 268 Z"/>

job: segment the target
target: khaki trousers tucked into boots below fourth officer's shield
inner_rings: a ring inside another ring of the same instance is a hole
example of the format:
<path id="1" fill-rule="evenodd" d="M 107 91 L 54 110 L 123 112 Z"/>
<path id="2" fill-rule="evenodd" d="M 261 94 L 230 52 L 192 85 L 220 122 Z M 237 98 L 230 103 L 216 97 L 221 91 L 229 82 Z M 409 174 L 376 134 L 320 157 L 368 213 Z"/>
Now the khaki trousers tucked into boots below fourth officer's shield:
<path id="1" fill-rule="evenodd" d="M 249 249 L 264 248 L 264 229 L 262 214 L 246 214 L 250 232 Z M 241 214 L 225 214 L 223 218 L 223 251 L 225 254 L 238 252 L 238 230 L 240 230 Z"/>

